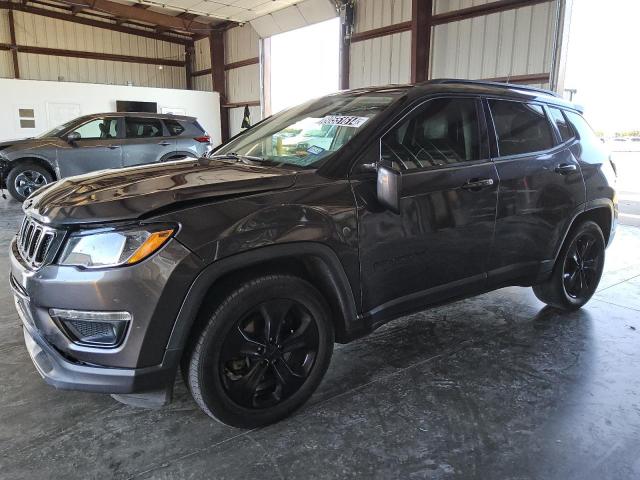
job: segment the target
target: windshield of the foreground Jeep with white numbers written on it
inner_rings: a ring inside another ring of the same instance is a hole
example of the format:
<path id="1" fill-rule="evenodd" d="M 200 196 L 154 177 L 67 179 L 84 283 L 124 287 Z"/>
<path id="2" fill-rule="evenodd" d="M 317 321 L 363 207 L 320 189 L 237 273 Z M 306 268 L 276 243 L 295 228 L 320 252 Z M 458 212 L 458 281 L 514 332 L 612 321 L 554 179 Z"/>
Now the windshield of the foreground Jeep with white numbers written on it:
<path id="1" fill-rule="evenodd" d="M 330 95 L 268 118 L 215 152 L 316 168 L 404 93 L 388 89 Z"/>

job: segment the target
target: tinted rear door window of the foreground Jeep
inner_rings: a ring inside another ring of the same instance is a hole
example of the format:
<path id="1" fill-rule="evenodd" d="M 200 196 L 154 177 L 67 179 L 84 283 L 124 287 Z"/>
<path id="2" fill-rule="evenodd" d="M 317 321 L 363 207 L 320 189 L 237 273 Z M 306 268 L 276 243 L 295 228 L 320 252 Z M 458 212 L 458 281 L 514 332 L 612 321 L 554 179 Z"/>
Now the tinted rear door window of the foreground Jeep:
<path id="1" fill-rule="evenodd" d="M 551 125 L 539 105 L 489 100 L 500 155 L 540 152 L 554 145 Z"/>

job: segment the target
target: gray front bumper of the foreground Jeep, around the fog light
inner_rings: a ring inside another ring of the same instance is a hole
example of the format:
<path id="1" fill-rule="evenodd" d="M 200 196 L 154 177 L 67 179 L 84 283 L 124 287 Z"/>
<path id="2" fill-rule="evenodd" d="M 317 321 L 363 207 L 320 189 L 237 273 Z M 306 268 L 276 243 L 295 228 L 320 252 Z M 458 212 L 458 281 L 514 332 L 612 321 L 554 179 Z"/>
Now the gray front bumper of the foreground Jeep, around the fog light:
<path id="1" fill-rule="evenodd" d="M 45 266 L 30 270 L 11 244 L 11 288 L 25 344 L 38 372 L 57 388 L 138 393 L 170 388 L 180 349 L 167 349 L 177 312 L 190 286 L 193 254 L 170 242 L 157 255 L 123 269 L 82 271 Z M 184 291 L 184 294 L 182 292 Z M 50 308 L 126 310 L 133 320 L 121 345 L 75 343 L 49 316 Z"/>

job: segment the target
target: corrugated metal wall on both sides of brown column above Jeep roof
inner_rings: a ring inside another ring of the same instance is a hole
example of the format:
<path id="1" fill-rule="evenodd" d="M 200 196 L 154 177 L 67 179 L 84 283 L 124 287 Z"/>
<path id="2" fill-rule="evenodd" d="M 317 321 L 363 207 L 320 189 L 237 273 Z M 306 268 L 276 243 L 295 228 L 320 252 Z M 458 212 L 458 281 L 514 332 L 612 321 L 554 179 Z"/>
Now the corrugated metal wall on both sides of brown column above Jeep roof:
<path id="1" fill-rule="evenodd" d="M 428 78 L 508 78 L 549 88 L 559 1 L 528 2 L 532 5 L 460 20 L 453 16 L 445 23 L 443 14 L 506 2 L 433 0 Z M 411 19 L 412 0 L 357 0 L 350 88 L 411 81 Z"/>

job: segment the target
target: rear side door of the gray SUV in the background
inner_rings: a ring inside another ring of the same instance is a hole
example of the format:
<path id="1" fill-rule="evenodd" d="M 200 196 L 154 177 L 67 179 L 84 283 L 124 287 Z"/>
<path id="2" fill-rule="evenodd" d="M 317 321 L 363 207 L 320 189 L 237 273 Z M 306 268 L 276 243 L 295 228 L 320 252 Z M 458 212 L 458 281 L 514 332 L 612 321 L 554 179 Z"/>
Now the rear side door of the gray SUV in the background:
<path id="1" fill-rule="evenodd" d="M 122 142 L 125 167 L 160 162 L 175 154 L 176 140 L 162 120 L 153 117 L 125 117 Z"/>

